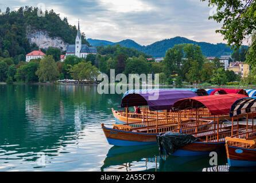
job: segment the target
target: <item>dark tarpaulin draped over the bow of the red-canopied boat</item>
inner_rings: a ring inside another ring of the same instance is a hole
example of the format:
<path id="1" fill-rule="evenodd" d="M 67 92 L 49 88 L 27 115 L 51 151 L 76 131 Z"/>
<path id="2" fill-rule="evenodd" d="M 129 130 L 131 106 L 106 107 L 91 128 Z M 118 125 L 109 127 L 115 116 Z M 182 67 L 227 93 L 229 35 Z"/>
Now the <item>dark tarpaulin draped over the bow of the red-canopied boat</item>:
<path id="1" fill-rule="evenodd" d="M 195 141 L 199 141 L 199 139 L 190 134 L 183 133 L 166 132 L 164 134 L 160 133 L 159 136 L 157 136 L 157 144 L 160 154 L 164 154 L 165 152 L 166 154 L 171 155 L 176 150 Z"/>

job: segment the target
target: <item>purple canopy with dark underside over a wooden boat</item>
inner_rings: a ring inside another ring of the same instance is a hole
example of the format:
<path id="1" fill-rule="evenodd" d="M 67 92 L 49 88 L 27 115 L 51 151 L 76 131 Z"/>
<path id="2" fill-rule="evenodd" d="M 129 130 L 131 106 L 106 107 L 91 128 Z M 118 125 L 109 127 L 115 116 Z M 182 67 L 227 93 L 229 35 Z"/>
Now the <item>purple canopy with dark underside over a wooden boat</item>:
<path id="1" fill-rule="evenodd" d="M 174 102 L 196 96 L 197 94 L 190 90 L 156 90 L 131 93 L 123 97 L 121 107 L 148 105 L 149 110 L 170 110 Z"/>

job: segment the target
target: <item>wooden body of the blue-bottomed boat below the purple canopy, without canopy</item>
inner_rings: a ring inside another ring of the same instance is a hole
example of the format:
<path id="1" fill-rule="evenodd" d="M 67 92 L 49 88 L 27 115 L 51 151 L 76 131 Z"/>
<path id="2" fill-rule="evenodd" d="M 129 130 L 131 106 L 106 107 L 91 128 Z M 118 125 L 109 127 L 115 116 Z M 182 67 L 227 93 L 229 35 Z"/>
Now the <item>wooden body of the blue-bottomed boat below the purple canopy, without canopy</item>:
<path id="1" fill-rule="evenodd" d="M 152 120 L 146 122 L 134 122 L 127 124 L 113 124 L 113 128 L 107 128 L 102 124 L 102 130 L 107 138 L 108 144 L 117 146 L 137 146 L 156 144 L 156 137 L 159 133 L 166 133 L 177 129 L 190 126 L 196 126 L 195 120 L 181 121 L 180 124 L 163 120 Z M 157 123 L 157 124 L 156 124 Z M 212 123 L 210 120 L 200 120 L 199 126 L 205 128 L 205 125 Z M 195 130 L 195 129 L 193 129 Z"/>

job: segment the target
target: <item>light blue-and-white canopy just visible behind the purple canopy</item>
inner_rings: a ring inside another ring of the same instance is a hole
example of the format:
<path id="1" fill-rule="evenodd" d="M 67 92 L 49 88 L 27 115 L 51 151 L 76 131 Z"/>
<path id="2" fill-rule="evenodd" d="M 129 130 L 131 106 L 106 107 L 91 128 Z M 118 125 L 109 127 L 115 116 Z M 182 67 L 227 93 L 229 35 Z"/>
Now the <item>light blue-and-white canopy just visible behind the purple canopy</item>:
<path id="1" fill-rule="evenodd" d="M 138 89 L 138 90 L 127 90 L 125 94 L 123 94 L 123 97 L 127 96 L 127 94 L 131 93 L 142 93 L 142 92 L 152 92 L 156 90 L 189 90 L 194 93 L 197 93 L 198 96 L 208 96 L 208 93 L 206 92 L 205 89 L 198 89 L 198 88 L 160 88 L 160 89 Z"/>

